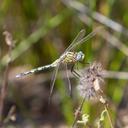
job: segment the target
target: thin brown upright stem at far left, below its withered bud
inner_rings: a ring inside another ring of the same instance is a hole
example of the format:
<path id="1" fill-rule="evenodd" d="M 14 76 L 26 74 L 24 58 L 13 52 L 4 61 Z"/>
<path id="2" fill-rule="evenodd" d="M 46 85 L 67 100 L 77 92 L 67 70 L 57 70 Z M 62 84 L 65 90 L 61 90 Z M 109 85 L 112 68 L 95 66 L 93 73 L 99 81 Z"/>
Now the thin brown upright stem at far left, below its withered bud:
<path id="1" fill-rule="evenodd" d="M 9 71 L 9 67 L 11 64 L 11 51 L 12 51 L 12 46 L 9 46 L 9 62 L 7 64 L 7 67 L 5 69 L 5 73 L 4 73 L 4 80 L 3 80 L 3 84 L 1 87 L 1 93 L 0 93 L 0 124 L 2 124 L 3 122 L 3 108 L 4 108 L 4 101 L 7 95 L 7 88 L 8 88 L 8 71 Z"/>

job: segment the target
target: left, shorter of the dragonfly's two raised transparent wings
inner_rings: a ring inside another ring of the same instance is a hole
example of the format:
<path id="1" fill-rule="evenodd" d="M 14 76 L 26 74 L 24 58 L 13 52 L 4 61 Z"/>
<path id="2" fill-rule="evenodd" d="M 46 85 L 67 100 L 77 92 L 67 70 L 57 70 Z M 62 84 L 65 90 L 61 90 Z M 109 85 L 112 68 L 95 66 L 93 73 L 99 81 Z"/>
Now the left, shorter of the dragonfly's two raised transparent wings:
<path id="1" fill-rule="evenodd" d="M 68 48 L 65 50 L 65 52 L 69 51 L 69 49 L 72 48 L 72 46 L 78 42 L 79 40 L 81 40 L 83 37 L 85 36 L 85 30 L 82 29 L 77 36 L 75 37 L 75 39 L 72 41 L 72 43 L 68 46 Z"/>

